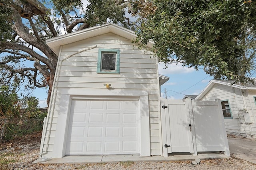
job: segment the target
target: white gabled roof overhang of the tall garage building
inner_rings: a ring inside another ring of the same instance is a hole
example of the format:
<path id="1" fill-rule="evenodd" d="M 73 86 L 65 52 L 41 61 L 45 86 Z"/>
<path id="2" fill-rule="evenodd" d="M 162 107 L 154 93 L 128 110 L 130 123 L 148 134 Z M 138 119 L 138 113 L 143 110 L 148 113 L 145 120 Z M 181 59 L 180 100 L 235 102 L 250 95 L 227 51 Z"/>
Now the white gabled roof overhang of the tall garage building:
<path id="1" fill-rule="evenodd" d="M 50 38 L 46 40 L 46 44 L 54 51 L 54 53 L 56 53 L 56 55 L 59 55 L 60 46 L 62 45 L 78 42 L 87 38 L 92 38 L 107 33 L 113 33 L 131 41 L 135 40 L 137 37 L 135 32 L 128 30 L 127 28 L 123 28 L 116 24 L 108 23 L 102 26 L 94 26 L 77 32 L 72 32 L 62 36 Z M 147 47 L 150 48 L 153 44 L 154 43 L 150 41 L 147 44 Z"/>

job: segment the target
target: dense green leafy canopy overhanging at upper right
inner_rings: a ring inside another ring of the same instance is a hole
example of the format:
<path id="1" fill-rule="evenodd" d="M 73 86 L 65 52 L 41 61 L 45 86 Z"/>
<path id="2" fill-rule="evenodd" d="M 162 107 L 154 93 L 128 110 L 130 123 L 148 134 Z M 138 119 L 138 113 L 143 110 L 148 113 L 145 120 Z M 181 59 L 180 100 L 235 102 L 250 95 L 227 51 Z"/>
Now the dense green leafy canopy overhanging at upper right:
<path id="1" fill-rule="evenodd" d="M 246 79 L 255 69 L 255 52 L 247 52 L 256 50 L 252 1 L 152 2 L 156 10 L 143 20 L 138 39 L 143 43 L 152 39 L 160 61 L 172 63 L 178 57 L 190 67 L 204 66 L 206 73 L 225 79 Z"/>

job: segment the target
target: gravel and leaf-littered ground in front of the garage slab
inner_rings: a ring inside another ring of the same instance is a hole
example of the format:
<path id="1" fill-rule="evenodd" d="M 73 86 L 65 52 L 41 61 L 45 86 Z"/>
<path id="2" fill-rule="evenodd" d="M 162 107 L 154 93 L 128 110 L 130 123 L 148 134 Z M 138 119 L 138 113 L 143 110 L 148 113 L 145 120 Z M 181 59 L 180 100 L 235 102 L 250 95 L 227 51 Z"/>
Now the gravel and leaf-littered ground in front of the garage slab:
<path id="1" fill-rule="evenodd" d="M 200 164 L 193 165 L 186 162 L 132 162 L 100 164 L 33 164 L 39 153 L 41 134 L 32 134 L 16 138 L 3 143 L 0 147 L 0 170 L 255 170 L 256 164 L 231 156 L 225 159 L 202 160 Z"/>

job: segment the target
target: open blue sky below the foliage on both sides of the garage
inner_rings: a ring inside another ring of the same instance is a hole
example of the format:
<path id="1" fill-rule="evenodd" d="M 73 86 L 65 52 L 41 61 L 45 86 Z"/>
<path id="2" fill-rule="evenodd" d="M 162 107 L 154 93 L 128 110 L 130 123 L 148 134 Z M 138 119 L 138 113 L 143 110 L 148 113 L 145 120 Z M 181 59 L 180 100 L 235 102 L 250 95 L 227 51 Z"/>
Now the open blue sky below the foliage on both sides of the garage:
<path id="1" fill-rule="evenodd" d="M 185 95 L 198 95 L 209 83 L 213 77 L 199 69 L 182 67 L 181 64 L 173 64 L 164 69 L 163 64 L 159 64 L 159 74 L 170 77 L 170 79 L 161 86 L 161 95 L 165 96 L 165 89 L 168 99 L 183 99 Z M 36 88 L 33 96 L 39 99 L 38 107 L 47 107 L 47 92 L 45 89 Z"/>

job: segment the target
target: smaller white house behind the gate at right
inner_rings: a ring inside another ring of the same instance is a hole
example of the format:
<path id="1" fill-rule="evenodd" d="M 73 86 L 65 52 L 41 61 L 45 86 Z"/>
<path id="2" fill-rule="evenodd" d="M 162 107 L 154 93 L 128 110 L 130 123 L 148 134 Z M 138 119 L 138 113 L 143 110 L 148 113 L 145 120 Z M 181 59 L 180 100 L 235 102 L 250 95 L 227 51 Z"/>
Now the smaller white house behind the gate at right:
<path id="1" fill-rule="evenodd" d="M 228 134 L 256 137 L 256 85 L 212 80 L 196 100 L 220 99 Z"/>

